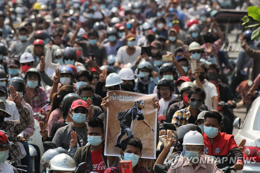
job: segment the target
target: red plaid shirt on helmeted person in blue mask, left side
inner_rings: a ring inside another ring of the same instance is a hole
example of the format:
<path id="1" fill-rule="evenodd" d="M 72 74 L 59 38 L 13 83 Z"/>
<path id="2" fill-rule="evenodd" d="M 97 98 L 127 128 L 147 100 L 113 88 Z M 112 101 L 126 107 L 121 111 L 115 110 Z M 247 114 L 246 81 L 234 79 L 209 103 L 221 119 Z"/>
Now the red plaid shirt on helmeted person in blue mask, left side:
<path id="1" fill-rule="evenodd" d="M 30 96 L 28 91 L 28 86 L 26 86 L 27 94 L 31 99 L 31 106 L 33 108 L 34 113 L 40 112 L 40 109 L 47 104 L 47 94 L 43 87 L 37 86 L 36 90 L 34 91 L 33 97 Z M 50 110 L 49 105 L 44 108 L 44 111 Z"/>

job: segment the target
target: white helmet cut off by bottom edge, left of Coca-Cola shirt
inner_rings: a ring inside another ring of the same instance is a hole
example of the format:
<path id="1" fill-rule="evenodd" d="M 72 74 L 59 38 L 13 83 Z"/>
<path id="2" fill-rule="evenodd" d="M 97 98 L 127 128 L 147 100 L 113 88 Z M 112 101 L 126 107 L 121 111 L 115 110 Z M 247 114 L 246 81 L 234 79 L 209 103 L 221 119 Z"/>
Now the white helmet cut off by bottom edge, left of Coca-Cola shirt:
<path id="1" fill-rule="evenodd" d="M 65 154 L 58 154 L 54 156 L 49 163 L 49 171 L 57 170 L 57 171 L 74 171 L 76 172 L 77 166 L 74 159 Z"/>

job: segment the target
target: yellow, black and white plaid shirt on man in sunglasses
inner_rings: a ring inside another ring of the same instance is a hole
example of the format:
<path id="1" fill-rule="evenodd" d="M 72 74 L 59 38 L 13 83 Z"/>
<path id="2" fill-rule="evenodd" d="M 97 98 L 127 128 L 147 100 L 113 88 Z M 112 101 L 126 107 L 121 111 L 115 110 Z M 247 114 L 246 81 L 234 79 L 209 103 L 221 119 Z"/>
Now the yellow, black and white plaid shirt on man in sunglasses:
<path id="1" fill-rule="evenodd" d="M 199 111 L 202 112 L 202 110 L 199 110 Z M 190 106 L 188 106 L 187 108 L 178 110 L 174 113 L 174 115 L 172 117 L 172 124 L 175 126 L 176 129 L 178 129 L 180 126 L 186 125 L 189 123 L 190 116 L 191 116 Z"/>

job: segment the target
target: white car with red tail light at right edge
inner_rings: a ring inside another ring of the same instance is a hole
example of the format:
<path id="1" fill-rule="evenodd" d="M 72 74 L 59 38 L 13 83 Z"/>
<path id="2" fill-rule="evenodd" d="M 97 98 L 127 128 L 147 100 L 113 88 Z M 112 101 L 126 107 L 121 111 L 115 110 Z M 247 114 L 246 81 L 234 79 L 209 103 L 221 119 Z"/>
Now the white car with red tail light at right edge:
<path id="1" fill-rule="evenodd" d="M 260 172 L 260 97 L 252 103 L 243 124 L 241 125 L 241 118 L 236 118 L 233 126 L 239 129 L 235 136 L 236 143 L 246 139 L 243 151 L 244 168 L 238 172 Z"/>

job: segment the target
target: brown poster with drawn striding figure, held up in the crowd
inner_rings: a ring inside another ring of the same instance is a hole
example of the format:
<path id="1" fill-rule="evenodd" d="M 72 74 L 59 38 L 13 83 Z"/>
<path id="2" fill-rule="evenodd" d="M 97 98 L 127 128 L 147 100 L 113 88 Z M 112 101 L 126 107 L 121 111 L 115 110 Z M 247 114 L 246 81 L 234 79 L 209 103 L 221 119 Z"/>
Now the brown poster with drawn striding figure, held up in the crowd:
<path id="1" fill-rule="evenodd" d="M 106 123 L 105 155 L 120 156 L 121 141 L 140 138 L 142 158 L 156 157 L 157 109 L 156 94 L 145 95 L 127 91 L 109 91 Z"/>

